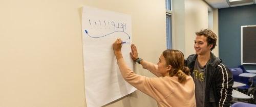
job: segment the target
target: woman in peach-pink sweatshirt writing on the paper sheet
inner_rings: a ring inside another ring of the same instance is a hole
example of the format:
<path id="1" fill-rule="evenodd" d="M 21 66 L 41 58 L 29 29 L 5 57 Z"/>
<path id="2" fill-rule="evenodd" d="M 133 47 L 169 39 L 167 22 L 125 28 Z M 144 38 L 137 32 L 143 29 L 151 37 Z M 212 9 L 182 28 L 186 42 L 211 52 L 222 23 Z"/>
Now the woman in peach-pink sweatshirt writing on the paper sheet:
<path id="1" fill-rule="evenodd" d="M 132 44 L 132 59 L 158 76 L 145 77 L 135 74 L 128 68 L 122 58 L 121 42 L 121 39 L 117 39 L 113 49 L 126 82 L 154 98 L 158 106 L 196 106 L 195 84 L 189 69 L 184 67 L 184 56 L 181 51 L 171 49 L 163 51 L 159 62 L 155 65 L 138 58 L 136 46 Z"/>

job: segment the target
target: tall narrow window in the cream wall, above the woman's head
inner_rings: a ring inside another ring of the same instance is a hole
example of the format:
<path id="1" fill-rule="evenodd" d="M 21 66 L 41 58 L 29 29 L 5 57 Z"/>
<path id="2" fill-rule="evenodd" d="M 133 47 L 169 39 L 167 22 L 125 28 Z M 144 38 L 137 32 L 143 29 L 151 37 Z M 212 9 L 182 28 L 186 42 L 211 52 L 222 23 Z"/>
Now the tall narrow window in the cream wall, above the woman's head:
<path id="1" fill-rule="evenodd" d="M 166 44 L 167 49 L 172 49 L 172 0 L 165 0 L 166 9 Z"/>

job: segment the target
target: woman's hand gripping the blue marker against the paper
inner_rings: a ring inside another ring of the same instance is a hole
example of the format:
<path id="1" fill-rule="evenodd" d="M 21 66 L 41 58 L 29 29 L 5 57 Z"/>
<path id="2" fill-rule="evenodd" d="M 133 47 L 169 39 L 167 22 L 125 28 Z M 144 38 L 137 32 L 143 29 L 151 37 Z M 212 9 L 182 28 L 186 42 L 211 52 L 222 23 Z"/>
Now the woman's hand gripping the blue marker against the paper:
<path id="1" fill-rule="evenodd" d="M 114 50 L 114 53 L 115 53 L 115 56 L 116 56 L 116 60 L 119 60 L 120 58 L 123 58 L 121 48 L 122 48 L 122 40 L 120 38 L 118 38 L 113 43 L 113 50 Z"/>

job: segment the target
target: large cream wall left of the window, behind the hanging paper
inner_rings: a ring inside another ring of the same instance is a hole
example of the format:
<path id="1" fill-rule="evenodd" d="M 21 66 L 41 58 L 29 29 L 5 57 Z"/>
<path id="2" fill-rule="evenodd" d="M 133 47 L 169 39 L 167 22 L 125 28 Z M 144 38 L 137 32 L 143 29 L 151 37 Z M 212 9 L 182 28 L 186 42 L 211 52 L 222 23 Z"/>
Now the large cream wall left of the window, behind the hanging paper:
<path id="1" fill-rule="evenodd" d="M 2 0 L 0 3 L 0 106 L 86 106 L 81 7 L 132 16 L 140 57 L 157 62 L 165 43 L 165 1 Z M 153 76 L 141 66 L 136 72 Z M 106 106 L 157 106 L 136 91 Z"/>

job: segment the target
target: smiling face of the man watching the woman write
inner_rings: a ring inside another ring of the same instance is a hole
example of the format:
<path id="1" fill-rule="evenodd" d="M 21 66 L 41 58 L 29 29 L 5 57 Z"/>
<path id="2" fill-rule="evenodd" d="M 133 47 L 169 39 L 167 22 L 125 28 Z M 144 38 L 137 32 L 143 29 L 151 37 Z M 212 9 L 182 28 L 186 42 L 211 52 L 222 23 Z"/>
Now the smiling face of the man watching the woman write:
<path id="1" fill-rule="evenodd" d="M 196 50 L 197 55 L 205 55 L 205 53 L 210 52 L 210 48 L 212 47 L 212 44 L 209 46 L 207 45 L 207 37 L 205 36 L 196 36 L 194 48 Z"/>

